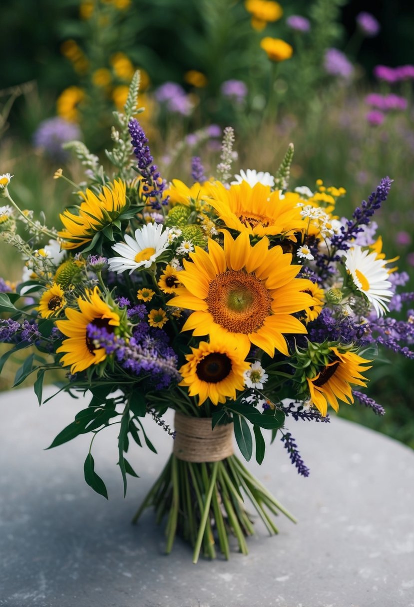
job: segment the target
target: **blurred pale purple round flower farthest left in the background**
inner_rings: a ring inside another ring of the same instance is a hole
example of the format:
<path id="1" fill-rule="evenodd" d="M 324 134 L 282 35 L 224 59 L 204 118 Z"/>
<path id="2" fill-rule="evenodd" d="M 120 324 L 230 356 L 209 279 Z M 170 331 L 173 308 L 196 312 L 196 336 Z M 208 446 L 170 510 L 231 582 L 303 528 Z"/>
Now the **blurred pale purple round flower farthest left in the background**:
<path id="1" fill-rule="evenodd" d="M 33 135 L 35 148 L 44 150 L 47 155 L 56 160 L 65 160 L 68 154 L 62 148 L 67 141 L 81 138 L 81 131 L 77 124 L 63 118 L 47 118 L 43 120 Z"/>

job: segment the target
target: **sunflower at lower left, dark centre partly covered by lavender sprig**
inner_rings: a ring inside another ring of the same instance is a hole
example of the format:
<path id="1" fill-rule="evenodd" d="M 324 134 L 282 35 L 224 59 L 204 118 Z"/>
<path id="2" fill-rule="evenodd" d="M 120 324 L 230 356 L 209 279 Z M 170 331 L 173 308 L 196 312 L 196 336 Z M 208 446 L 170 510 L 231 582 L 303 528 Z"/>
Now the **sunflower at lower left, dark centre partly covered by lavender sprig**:
<path id="1" fill-rule="evenodd" d="M 71 365 L 70 373 L 84 371 L 90 365 L 97 365 L 106 358 L 104 348 L 95 348 L 89 338 L 88 325 L 104 327 L 109 333 L 113 333 L 115 327 L 120 325 L 120 317 L 100 298 L 98 287 L 87 291 L 85 297 L 86 299 L 78 297 L 80 311 L 66 308 L 67 320 L 56 320 L 59 331 L 69 337 L 56 352 L 64 353 L 61 363 L 64 367 Z"/>

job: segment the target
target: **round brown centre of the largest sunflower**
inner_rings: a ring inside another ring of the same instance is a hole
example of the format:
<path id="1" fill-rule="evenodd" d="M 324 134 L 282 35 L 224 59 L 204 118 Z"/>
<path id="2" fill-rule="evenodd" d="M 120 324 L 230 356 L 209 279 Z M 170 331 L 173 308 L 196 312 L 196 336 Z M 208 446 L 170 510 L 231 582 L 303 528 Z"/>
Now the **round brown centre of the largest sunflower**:
<path id="1" fill-rule="evenodd" d="M 209 285 L 208 311 L 230 333 L 254 333 L 271 314 L 272 297 L 262 280 L 244 270 L 226 270 Z"/>

